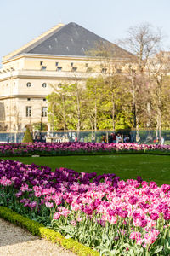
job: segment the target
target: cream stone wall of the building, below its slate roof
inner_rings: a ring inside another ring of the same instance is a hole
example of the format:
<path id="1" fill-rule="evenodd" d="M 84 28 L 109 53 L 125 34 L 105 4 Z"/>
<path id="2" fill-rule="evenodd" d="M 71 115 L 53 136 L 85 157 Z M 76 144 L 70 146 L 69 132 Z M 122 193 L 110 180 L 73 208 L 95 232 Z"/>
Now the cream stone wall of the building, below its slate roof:
<path id="1" fill-rule="evenodd" d="M 89 58 L 40 55 L 4 61 L 0 70 L 0 131 L 23 131 L 26 125 L 40 122 L 50 129 L 48 117 L 42 117 L 42 107 L 48 107 L 45 98 L 54 91 L 51 85 L 58 88 L 59 84 L 77 81 L 85 84 L 89 77 L 102 74 L 103 67 L 107 72 L 114 72 L 122 66 L 126 68 L 126 61 L 119 61 L 118 66 L 116 61 L 114 66 L 114 63 Z M 73 67 L 77 67 L 77 71 L 72 71 Z M 31 117 L 26 117 L 26 107 L 31 107 Z"/>

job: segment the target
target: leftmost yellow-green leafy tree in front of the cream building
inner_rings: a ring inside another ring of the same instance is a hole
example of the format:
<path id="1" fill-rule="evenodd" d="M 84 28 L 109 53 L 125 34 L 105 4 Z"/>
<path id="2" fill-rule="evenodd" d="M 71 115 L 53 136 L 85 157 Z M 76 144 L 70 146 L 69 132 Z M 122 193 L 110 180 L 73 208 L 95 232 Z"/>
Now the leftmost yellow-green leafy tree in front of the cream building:
<path id="1" fill-rule="evenodd" d="M 54 129 L 83 129 L 84 88 L 82 84 L 60 84 L 47 96 L 48 119 Z"/>

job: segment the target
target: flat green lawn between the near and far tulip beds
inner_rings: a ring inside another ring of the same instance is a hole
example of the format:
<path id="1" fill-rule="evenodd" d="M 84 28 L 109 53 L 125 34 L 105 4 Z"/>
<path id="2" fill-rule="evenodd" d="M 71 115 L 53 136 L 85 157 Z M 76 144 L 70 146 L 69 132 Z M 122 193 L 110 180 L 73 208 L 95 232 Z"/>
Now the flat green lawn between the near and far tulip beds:
<path id="1" fill-rule="evenodd" d="M 119 155 L 77 155 L 52 157 L 8 157 L 3 159 L 19 160 L 26 164 L 35 163 L 49 166 L 53 170 L 66 167 L 77 172 L 115 173 L 122 179 L 136 178 L 155 181 L 158 185 L 170 184 L 170 156 L 150 154 Z"/>

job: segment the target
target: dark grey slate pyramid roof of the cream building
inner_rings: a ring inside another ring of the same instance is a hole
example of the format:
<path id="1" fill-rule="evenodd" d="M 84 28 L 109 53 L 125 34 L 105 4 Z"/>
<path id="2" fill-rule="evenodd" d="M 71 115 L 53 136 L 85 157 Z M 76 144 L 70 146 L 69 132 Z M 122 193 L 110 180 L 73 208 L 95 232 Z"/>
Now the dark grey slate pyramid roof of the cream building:
<path id="1" fill-rule="evenodd" d="M 93 49 L 99 49 L 101 45 L 108 45 L 114 57 L 127 58 L 131 55 L 125 49 L 112 44 L 74 22 L 59 27 L 35 44 L 31 44 L 28 48 L 20 51 L 17 55 L 24 53 L 66 56 L 96 55 L 96 52 L 93 53 Z"/>

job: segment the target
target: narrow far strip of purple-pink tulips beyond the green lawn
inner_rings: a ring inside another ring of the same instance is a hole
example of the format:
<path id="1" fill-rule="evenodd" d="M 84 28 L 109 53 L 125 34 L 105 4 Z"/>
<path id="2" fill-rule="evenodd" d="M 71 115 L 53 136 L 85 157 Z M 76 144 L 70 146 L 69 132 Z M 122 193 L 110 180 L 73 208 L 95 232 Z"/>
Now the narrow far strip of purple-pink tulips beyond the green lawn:
<path id="1" fill-rule="evenodd" d="M 60 154 L 170 154 L 170 145 L 131 143 L 0 143 L 0 156 Z"/>

